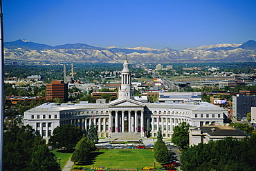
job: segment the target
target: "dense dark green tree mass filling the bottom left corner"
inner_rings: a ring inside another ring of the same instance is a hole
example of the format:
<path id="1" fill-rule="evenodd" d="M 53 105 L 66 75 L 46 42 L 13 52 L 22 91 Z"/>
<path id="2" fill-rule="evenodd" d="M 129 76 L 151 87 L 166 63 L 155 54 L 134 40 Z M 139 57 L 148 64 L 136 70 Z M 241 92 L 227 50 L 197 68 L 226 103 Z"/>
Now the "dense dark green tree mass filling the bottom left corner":
<path id="1" fill-rule="evenodd" d="M 3 170 L 60 170 L 55 154 L 30 125 L 4 132 Z"/>

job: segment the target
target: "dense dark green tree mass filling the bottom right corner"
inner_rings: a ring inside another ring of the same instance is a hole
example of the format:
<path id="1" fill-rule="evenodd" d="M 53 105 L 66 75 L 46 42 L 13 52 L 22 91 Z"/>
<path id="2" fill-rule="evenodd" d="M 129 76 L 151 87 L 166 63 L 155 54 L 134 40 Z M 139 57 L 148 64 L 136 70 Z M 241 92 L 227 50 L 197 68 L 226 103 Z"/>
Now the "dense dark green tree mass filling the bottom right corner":
<path id="1" fill-rule="evenodd" d="M 181 170 L 255 170 L 256 136 L 199 143 L 181 155 Z"/>

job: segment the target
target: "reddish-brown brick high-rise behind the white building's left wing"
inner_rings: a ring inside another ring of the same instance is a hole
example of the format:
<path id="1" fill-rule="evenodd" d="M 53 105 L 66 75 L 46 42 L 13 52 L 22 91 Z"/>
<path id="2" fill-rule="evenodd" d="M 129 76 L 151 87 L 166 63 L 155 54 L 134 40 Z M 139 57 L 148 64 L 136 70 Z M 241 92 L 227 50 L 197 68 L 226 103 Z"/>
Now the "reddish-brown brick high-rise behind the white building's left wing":
<path id="1" fill-rule="evenodd" d="M 46 100 L 53 100 L 60 98 L 60 100 L 68 100 L 68 84 L 64 81 L 51 81 L 46 84 Z"/>

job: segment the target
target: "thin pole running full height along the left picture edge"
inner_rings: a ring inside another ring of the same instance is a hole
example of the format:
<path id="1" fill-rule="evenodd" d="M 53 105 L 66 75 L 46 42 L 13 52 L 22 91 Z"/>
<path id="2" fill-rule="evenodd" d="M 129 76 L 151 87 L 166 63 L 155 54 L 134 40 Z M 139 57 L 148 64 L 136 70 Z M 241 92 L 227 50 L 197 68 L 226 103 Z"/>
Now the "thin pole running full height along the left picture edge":
<path id="1" fill-rule="evenodd" d="M 2 1 L 0 0 L 0 116 L 1 116 L 1 120 L 0 120 L 0 170 L 3 170 L 3 117 L 4 117 L 4 94 L 3 94 L 3 88 L 4 88 L 4 84 L 3 84 L 3 72 L 4 72 L 4 62 L 3 62 L 3 13 L 2 13 Z"/>

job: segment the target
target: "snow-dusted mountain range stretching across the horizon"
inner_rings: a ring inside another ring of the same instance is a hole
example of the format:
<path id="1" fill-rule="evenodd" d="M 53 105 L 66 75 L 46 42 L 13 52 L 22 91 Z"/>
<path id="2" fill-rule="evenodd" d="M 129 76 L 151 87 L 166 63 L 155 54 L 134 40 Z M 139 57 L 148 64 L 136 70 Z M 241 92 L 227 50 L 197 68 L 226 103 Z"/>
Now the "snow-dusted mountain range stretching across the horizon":
<path id="1" fill-rule="evenodd" d="M 137 48 L 100 48 L 83 43 L 48 46 L 27 40 L 4 43 L 6 61 L 48 63 L 122 63 L 125 55 L 129 63 L 207 63 L 207 62 L 256 62 L 256 41 L 243 44 L 217 44 L 163 50 Z"/>

